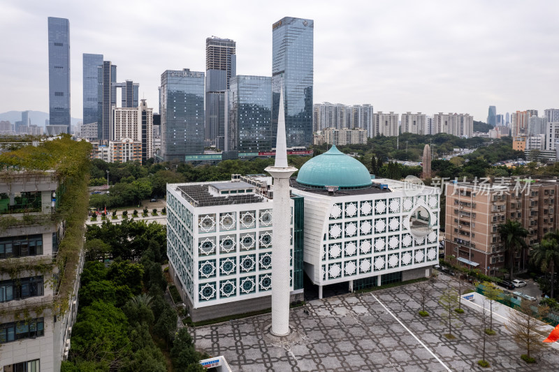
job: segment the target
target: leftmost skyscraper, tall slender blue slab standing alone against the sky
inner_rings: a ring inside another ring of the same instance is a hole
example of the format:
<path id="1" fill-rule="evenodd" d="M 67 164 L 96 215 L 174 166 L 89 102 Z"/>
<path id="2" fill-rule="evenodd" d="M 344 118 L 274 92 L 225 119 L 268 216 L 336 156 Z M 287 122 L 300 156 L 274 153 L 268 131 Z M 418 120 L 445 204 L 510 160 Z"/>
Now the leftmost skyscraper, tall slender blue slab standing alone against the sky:
<path id="1" fill-rule="evenodd" d="M 48 17 L 48 89 L 50 125 L 70 133 L 70 22 Z"/>

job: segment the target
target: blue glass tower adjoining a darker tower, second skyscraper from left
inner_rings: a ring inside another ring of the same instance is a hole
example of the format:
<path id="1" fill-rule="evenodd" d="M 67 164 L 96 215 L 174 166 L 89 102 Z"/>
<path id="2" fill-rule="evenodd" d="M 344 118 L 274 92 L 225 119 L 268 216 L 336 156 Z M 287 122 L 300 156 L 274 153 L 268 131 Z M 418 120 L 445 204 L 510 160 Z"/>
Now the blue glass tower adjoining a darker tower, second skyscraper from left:
<path id="1" fill-rule="evenodd" d="M 83 54 L 83 124 L 96 123 L 98 118 L 98 68 L 103 54 Z"/>

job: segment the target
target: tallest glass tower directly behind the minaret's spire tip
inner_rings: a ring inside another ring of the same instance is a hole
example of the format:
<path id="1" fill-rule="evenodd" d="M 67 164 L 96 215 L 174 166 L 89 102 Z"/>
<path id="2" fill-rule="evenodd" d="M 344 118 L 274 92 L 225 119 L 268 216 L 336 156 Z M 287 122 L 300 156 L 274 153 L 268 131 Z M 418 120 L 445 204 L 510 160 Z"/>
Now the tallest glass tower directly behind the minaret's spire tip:
<path id="1" fill-rule="evenodd" d="M 287 146 L 312 144 L 314 21 L 284 17 L 272 25 L 272 133 L 277 132 L 279 89 L 284 88 Z M 275 137 L 272 142 L 275 147 Z"/>

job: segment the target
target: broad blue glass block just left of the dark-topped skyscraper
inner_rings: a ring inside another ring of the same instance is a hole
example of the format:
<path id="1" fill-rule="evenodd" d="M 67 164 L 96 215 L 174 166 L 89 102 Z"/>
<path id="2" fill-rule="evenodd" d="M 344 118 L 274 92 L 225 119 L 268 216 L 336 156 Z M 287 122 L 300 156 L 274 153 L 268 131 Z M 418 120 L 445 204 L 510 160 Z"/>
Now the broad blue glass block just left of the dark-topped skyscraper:
<path id="1" fill-rule="evenodd" d="M 161 155 L 184 161 L 204 151 L 204 73 L 166 70 L 161 74 Z"/>

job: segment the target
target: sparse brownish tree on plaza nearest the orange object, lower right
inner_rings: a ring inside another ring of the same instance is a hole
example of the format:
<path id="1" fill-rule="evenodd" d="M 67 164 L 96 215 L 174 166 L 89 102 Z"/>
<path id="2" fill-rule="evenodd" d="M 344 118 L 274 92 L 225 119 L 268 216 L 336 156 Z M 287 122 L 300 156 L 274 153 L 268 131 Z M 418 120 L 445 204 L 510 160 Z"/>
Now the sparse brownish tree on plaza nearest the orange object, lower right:
<path id="1" fill-rule="evenodd" d="M 511 332 L 514 341 L 526 349 L 526 354 L 521 355 L 522 359 L 528 363 L 534 363 L 530 354 L 539 352 L 546 347 L 546 343 L 542 342 L 546 334 L 542 322 L 547 313 L 549 306 L 537 306 L 537 311 L 532 310 L 532 304 L 526 300 L 522 300 L 520 307 L 516 311 L 511 311 L 507 329 Z"/>

